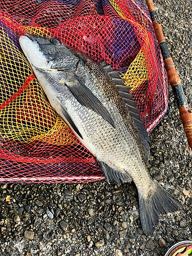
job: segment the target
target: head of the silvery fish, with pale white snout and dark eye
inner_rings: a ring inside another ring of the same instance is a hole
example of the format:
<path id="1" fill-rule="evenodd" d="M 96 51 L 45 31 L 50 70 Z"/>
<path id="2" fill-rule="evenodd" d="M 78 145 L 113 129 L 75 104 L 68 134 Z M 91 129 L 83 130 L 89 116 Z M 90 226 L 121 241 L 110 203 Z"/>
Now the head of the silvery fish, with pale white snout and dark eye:
<path id="1" fill-rule="evenodd" d="M 20 36 L 19 44 L 32 69 L 47 71 L 74 71 L 79 58 L 65 44 L 54 37 L 26 33 Z"/>

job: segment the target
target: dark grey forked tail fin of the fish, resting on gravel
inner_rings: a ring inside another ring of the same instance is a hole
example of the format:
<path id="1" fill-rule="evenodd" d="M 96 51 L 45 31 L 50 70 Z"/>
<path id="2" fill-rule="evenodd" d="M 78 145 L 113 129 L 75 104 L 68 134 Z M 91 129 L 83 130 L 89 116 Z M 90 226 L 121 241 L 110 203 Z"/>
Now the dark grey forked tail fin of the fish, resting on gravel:
<path id="1" fill-rule="evenodd" d="M 177 198 L 164 190 L 157 182 L 154 186 L 154 193 L 146 199 L 138 190 L 141 226 L 146 236 L 153 234 L 160 212 L 173 212 L 183 207 Z"/>

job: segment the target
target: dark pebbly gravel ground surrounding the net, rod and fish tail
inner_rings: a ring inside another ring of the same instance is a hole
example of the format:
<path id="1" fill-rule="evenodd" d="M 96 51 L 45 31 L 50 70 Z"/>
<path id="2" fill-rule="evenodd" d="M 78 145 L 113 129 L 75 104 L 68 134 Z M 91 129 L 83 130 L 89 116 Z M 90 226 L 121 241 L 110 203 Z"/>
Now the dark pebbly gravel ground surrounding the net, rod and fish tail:
<path id="1" fill-rule="evenodd" d="M 191 0 L 155 6 L 191 108 Z M 1 255 L 163 256 L 178 241 L 192 240 L 192 153 L 171 89 L 169 111 L 150 137 L 149 170 L 184 206 L 161 215 L 153 236 L 141 229 L 133 183 L 2 184 Z"/>

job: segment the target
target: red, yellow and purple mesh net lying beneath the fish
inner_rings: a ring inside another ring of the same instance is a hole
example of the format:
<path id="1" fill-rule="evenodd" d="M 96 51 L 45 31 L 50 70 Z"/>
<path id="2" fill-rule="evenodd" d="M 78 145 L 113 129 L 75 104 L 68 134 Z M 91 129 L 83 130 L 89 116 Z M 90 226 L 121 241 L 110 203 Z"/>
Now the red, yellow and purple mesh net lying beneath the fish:
<path id="1" fill-rule="evenodd" d="M 121 71 L 150 133 L 167 109 L 167 78 L 146 7 L 139 0 L 0 2 L 0 182 L 103 179 L 35 78 L 18 42 L 27 32 L 57 37 Z"/>

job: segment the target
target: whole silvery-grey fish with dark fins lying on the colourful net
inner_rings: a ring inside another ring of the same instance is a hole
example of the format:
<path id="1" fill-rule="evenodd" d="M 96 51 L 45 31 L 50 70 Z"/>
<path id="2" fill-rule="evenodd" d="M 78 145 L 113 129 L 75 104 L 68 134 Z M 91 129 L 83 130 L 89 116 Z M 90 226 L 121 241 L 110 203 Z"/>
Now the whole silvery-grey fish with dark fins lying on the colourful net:
<path id="1" fill-rule="evenodd" d="M 27 33 L 19 44 L 52 108 L 96 158 L 106 181 L 135 183 L 141 226 L 151 236 L 160 213 L 182 204 L 148 172 L 150 139 L 130 88 L 112 66 L 57 38 Z"/>

